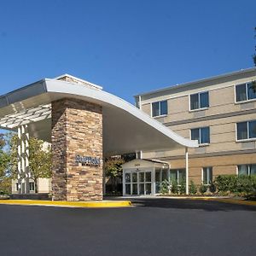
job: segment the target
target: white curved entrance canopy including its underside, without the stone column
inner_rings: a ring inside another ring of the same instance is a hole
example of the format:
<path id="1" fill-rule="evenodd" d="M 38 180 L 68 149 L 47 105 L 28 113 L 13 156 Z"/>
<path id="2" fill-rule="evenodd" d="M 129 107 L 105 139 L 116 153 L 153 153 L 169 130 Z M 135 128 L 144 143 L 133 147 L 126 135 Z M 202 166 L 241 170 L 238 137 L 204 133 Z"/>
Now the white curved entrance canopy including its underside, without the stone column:
<path id="1" fill-rule="evenodd" d="M 19 125 L 28 125 L 31 136 L 50 142 L 50 103 L 61 98 L 77 98 L 102 106 L 105 156 L 198 147 L 197 141 L 180 137 L 129 102 L 88 84 L 43 79 L 0 96 L 0 126 L 15 131 Z"/>

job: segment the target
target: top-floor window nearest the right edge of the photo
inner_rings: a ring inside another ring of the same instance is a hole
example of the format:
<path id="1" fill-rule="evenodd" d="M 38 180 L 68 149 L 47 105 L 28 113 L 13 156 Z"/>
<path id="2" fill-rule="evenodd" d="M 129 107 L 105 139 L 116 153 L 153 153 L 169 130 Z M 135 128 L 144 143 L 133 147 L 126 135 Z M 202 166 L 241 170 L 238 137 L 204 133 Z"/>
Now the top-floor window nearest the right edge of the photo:
<path id="1" fill-rule="evenodd" d="M 245 102 L 256 99 L 256 90 L 253 82 L 236 85 L 236 102 Z"/>

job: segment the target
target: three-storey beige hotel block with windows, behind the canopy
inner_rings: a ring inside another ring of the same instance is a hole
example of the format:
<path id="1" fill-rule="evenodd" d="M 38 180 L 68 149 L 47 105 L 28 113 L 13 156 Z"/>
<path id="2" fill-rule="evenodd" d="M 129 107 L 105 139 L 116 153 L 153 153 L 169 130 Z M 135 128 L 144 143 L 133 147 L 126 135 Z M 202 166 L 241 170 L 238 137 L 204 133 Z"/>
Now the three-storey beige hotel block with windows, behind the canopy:
<path id="1" fill-rule="evenodd" d="M 136 106 L 178 135 L 189 148 L 189 181 L 209 184 L 219 174 L 256 174 L 256 67 L 135 96 Z M 185 177 L 183 148 L 143 151 Z"/>

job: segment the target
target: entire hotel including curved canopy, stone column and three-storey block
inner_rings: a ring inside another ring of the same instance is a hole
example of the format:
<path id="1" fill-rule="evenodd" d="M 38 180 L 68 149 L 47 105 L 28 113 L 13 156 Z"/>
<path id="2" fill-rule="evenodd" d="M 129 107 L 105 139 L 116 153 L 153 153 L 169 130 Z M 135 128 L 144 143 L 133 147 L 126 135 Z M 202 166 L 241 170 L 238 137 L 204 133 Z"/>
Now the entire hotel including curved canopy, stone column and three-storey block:
<path id="1" fill-rule="evenodd" d="M 34 192 L 29 137 L 51 144 L 53 177 L 38 190 L 56 201 L 102 200 L 103 159 L 131 152 L 124 195 L 159 194 L 172 178 L 188 194 L 190 181 L 255 174 L 255 80 L 253 67 L 139 94 L 136 107 L 68 74 L 0 96 L 0 127 L 19 137 L 13 192 Z"/>

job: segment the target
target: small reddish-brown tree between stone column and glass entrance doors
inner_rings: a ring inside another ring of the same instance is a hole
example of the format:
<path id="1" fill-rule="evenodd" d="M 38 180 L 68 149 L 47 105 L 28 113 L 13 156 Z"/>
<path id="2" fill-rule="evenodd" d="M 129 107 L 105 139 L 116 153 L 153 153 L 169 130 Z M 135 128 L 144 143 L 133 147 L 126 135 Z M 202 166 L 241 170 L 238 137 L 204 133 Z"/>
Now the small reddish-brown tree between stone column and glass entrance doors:
<path id="1" fill-rule="evenodd" d="M 112 190 L 114 191 L 117 188 L 118 180 L 122 178 L 122 165 L 125 163 L 125 160 L 117 157 L 110 157 L 105 160 L 104 170 L 106 177 L 109 177 L 112 184 Z"/>

